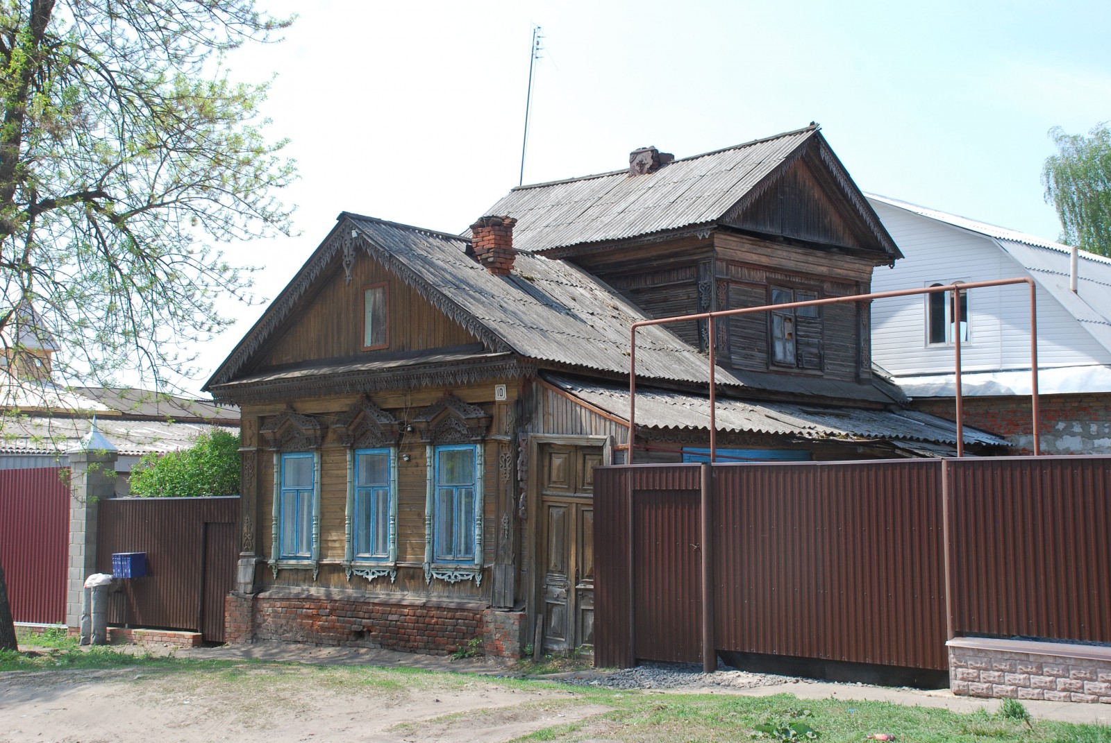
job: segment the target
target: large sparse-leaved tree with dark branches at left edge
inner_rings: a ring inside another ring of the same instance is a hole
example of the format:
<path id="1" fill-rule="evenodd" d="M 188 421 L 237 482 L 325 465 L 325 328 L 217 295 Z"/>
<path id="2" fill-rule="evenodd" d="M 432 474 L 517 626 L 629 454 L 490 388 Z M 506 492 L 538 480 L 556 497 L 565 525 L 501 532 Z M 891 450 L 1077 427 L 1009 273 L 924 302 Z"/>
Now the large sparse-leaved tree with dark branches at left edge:
<path id="1" fill-rule="evenodd" d="M 223 53 L 288 23 L 253 0 L 0 0 L 9 371 L 53 347 L 56 381 L 158 384 L 228 322 L 216 300 L 250 275 L 216 245 L 287 231 L 294 171 L 263 134 L 266 86 Z M 38 328 L 17 328 L 27 308 Z"/>

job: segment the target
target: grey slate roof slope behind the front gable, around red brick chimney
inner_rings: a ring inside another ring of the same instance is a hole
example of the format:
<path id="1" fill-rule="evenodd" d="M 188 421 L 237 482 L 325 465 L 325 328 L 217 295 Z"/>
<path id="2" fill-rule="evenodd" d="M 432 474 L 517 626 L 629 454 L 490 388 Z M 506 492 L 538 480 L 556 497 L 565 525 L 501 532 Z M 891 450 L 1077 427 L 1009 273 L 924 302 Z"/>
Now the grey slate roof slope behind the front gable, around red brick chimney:
<path id="1" fill-rule="evenodd" d="M 519 354 L 627 375 L 629 331 L 647 319 L 608 284 L 573 264 L 519 253 L 513 273 L 494 275 L 466 250 L 467 240 L 382 220 L 344 214 L 371 254 L 409 278 L 426 297 L 461 322 L 478 321 L 496 342 Z M 637 375 L 709 383 L 707 357 L 663 327 L 637 338 Z M 744 371 L 715 371 L 718 384 L 845 400 L 904 400 L 893 383 L 855 384 Z"/>

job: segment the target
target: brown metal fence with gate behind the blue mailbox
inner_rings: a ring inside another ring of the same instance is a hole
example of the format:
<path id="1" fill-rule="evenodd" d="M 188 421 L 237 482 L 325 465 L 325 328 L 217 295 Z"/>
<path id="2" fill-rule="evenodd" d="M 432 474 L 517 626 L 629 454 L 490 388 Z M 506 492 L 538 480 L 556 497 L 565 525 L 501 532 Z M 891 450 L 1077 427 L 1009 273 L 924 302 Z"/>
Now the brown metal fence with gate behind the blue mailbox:
<path id="1" fill-rule="evenodd" d="M 123 580 L 111 624 L 201 632 L 223 641 L 223 598 L 236 580 L 239 498 L 124 498 L 100 502 L 97 566 L 146 552 L 146 578 Z"/>

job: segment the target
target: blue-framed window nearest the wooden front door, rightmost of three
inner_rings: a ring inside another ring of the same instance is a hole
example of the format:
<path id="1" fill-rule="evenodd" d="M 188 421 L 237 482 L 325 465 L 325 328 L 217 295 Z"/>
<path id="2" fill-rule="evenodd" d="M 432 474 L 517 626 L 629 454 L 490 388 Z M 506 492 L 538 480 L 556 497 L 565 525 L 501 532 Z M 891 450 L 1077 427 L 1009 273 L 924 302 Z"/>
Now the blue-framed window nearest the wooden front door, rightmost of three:
<path id="1" fill-rule="evenodd" d="M 434 449 L 432 555 L 437 562 L 473 562 L 478 456 L 473 444 Z"/>

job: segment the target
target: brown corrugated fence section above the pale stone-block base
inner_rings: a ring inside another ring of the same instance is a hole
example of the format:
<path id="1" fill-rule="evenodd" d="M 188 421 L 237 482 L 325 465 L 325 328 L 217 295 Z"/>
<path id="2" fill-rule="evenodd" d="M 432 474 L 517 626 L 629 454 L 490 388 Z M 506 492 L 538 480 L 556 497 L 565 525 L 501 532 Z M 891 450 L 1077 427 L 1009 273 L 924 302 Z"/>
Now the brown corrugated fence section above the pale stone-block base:
<path id="1" fill-rule="evenodd" d="M 1111 642 L 1111 459 L 947 464 L 954 633 Z"/>

